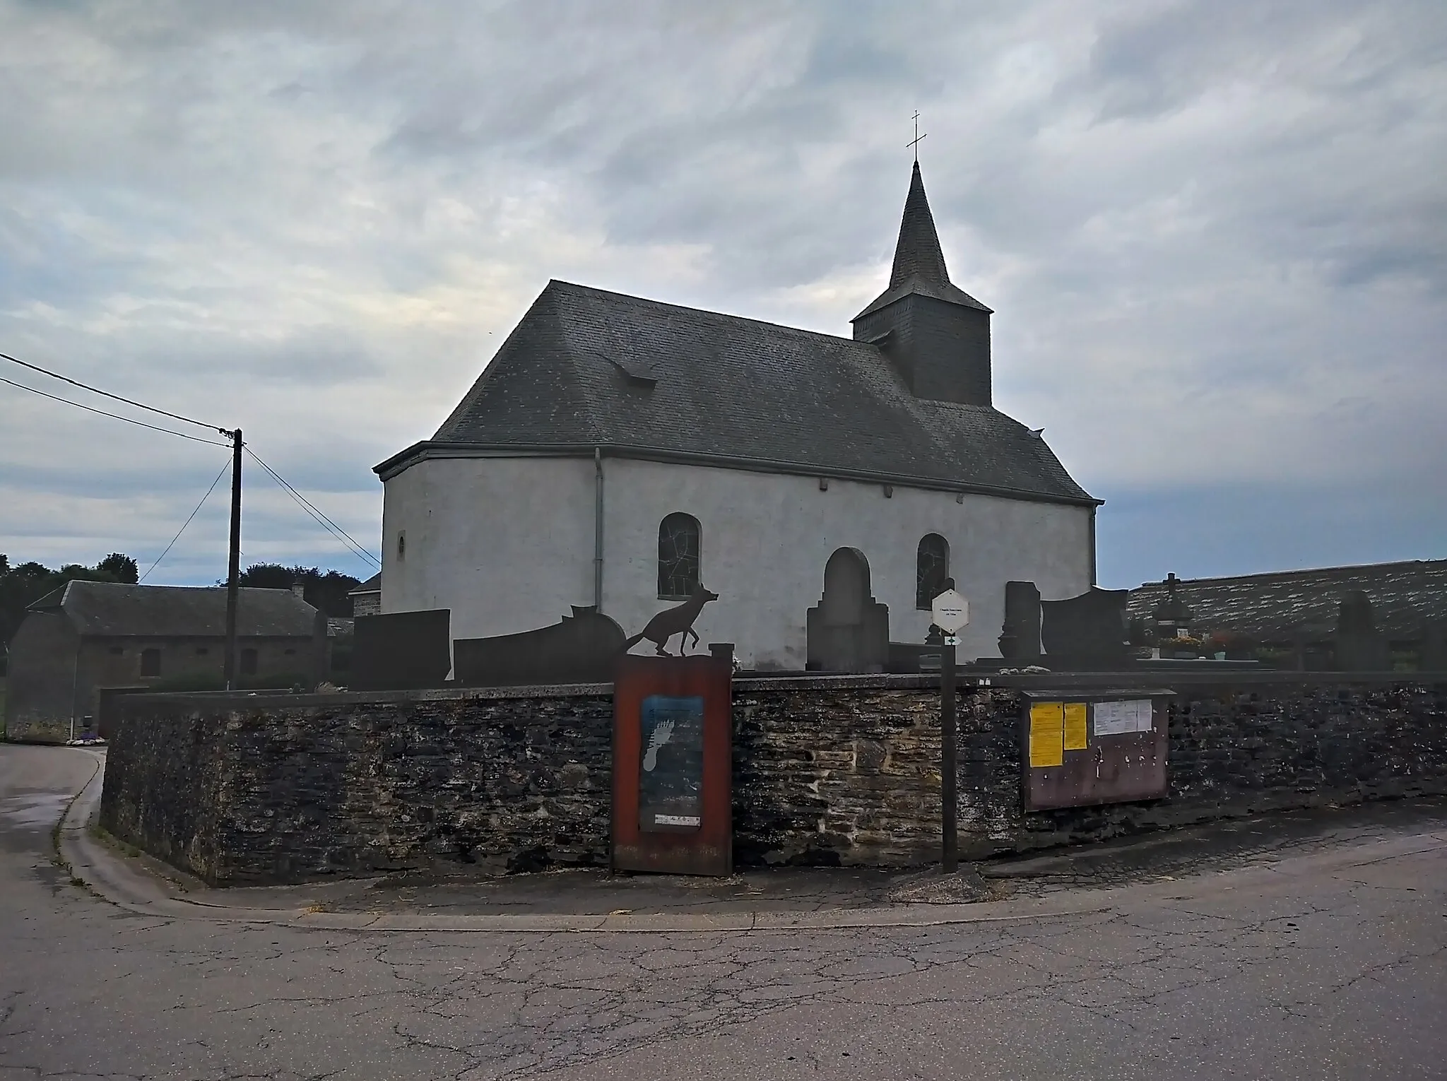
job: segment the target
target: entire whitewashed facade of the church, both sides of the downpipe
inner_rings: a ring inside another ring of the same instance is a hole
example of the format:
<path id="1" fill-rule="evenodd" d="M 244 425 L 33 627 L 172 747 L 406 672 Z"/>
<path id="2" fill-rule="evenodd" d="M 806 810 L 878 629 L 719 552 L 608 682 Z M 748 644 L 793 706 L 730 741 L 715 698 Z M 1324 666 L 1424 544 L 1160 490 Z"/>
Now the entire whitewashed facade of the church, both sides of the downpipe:
<path id="1" fill-rule="evenodd" d="M 661 601 L 658 524 L 683 511 L 702 525 L 700 582 L 719 593 L 695 625 L 702 645 L 735 643 L 752 669 L 803 669 L 805 621 L 823 569 L 842 547 L 870 563 L 890 640 L 923 643 L 915 608 L 920 538 L 949 541 L 949 575 L 971 603 L 961 657 L 998 656 L 1004 583 L 1042 598 L 1092 580 L 1092 509 L 1056 502 L 956 496 L 818 476 L 603 457 L 602 611 L 628 634 Z M 424 459 L 385 482 L 382 611 L 450 608 L 453 638 L 556 624 L 592 605 L 596 478 L 582 457 Z M 677 640 L 670 643 L 677 650 Z"/>

